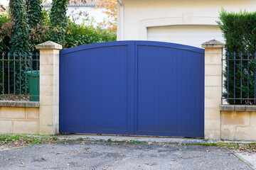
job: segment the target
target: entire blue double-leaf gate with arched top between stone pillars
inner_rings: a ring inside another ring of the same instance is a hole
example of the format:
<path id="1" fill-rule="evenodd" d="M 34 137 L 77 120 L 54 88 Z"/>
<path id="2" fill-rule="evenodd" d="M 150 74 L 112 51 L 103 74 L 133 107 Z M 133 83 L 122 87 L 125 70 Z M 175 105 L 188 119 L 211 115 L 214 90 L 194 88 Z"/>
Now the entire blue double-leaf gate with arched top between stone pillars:
<path id="1" fill-rule="evenodd" d="M 60 132 L 204 136 L 204 50 L 117 41 L 60 51 Z"/>

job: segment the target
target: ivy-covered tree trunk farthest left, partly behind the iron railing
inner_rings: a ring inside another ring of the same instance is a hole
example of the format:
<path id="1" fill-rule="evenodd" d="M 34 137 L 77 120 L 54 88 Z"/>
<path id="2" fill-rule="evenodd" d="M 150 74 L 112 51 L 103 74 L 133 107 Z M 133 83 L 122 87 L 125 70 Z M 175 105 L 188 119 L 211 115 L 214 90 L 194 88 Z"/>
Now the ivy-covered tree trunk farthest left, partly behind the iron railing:
<path id="1" fill-rule="evenodd" d="M 25 1 L 23 0 L 12 0 L 10 1 L 11 6 L 11 20 L 12 20 L 12 28 L 11 28 L 11 50 L 10 50 L 10 58 L 19 58 L 19 54 L 21 54 L 21 59 L 25 59 L 30 57 L 31 47 L 30 47 L 30 36 L 28 29 L 28 18 L 26 13 Z M 18 66 L 18 62 L 16 66 Z M 21 69 L 16 67 L 15 72 L 15 84 L 16 84 L 16 93 L 23 93 L 26 90 L 26 71 L 30 70 L 31 63 L 30 62 L 21 62 Z M 10 67 L 14 68 L 14 62 L 10 62 Z M 21 70 L 21 75 L 19 74 Z M 11 69 L 11 82 L 14 82 L 14 69 Z M 21 82 L 19 81 L 21 79 Z M 21 91 L 19 91 L 19 86 L 21 84 Z M 12 91 L 14 92 L 14 84 L 11 84 Z"/>

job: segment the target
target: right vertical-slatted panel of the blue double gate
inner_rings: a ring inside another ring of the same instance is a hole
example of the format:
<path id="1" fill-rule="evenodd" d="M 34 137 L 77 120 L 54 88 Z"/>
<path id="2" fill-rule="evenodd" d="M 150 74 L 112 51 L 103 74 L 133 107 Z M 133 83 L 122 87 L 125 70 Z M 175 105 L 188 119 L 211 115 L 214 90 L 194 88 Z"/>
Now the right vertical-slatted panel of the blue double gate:
<path id="1" fill-rule="evenodd" d="M 203 137 L 203 55 L 137 47 L 137 135 Z M 201 62 L 201 64 L 200 64 Z M 198 63 L 198 67 L 197 67 Z"/>

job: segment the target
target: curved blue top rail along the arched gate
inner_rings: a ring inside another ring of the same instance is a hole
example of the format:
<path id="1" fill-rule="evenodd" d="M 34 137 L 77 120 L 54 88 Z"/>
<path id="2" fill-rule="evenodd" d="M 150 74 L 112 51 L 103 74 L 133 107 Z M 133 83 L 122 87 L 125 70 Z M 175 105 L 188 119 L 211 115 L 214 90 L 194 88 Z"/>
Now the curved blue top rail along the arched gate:
<path id="1" fill-rule="evenodd" d="M 100 42 L 100 43 L 89 44 L 89 45 L 80 45 L 78 47 L 71 47 L 65 50 L 61 50 L 60 52 L 62 54 L 67 54 L 70 52 L 78 52 L 82 50 L 90 50 L 90 49 L 95 49 L 100 47 L 113 47 L 113 46 L 124 46 L 124 45 L 169 47 L 177 50 L 186 50 L 186 51 L 204 54 L 204 49 L 199 47 L 176 44 L 171 42 L 159 42 L 159 41 L 147 41 L 147 40 L 124 40 L 124 41 Z"/>

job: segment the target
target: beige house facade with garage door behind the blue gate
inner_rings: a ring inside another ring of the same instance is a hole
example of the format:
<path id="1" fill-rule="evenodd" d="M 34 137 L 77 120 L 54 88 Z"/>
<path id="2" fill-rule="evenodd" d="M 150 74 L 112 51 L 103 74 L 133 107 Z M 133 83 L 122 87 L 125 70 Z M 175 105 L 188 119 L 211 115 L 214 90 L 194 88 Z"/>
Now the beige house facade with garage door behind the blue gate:
<path id="1" fill-rule="evenodd" d="M 119 0 L 117 40 L 155 40 L 201 47 L 224 42 L 217 26 L 221 6 L 227 11 L 256 11 L 255 0 Z"/>

